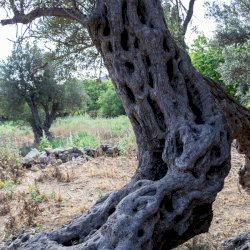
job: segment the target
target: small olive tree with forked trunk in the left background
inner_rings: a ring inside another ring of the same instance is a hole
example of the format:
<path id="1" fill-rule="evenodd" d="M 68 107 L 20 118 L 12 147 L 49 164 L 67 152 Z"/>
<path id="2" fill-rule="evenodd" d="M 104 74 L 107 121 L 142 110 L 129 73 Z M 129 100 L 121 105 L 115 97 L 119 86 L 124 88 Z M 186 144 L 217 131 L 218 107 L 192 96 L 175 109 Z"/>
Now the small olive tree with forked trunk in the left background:
<path id="1" fill-rule="evenodd" d="M 43 133 L 51 137 L 49 129 L 58 116 L 83 105 L 82 85 L 74 79 L 62 81 L 59 68 L 46 61 L 46 55 L 36 45 L 16 43 L 0 72 L 4 115 L 29 122 L 35 143 Z"/>

